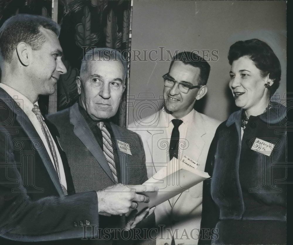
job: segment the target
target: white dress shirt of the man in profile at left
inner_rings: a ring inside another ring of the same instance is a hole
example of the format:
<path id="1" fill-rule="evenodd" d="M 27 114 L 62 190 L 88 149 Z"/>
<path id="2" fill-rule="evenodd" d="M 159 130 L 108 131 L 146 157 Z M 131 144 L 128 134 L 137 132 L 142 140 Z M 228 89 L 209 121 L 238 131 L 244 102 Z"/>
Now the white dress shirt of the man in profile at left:
<path id="1" fill-rule="evenodd" d="M 33 106 L 34 106 L 33 103 L 27 97 L 25 97 L 23 94 L 21 94 L 20 92 L 18 92 L 15 89 L 13 89 L 12 87 L 9 87 L 6 84 L 0 83 L 0 87 L 2 89 L 4 89 L 7 92 L 7 94 L 9 94 L 12 99 L 14 99 L 14 101 L 16 103 L 18 103 L 19 108 L 21 108 L 24 111 L 24 113 L 28 116 L 28 118 L 30 119 L 31 123 L 35 127 L 35 130 L 39 134 L 39 136 L 40 136 L 40 138 L 41 138 L 41 140 L 42 140 L 42 142 L 43 142 L 43 144 L 44 144 L 44 146 L 45 146 L 45 148 L 46 148 L 46 150 L 47 150 L 47 152 L 48 152 L 48 154 L 50 156 L 52 164 L 53 164 L 53 166 L 55 168 L 53 156 L 52 156 L 51 151 L 50 151 L 50 147 L 49 147 L 49 145 L 47 143 L 45 135 L 42 132 L 42 128 L 40 126 L 38 118 L 35 115 L 35 113 L 33 113 L 33 111 L 32 111 Z M 35 104 L 38 106 L 38 102 L 35 102 Z M 47 125 L 46 125 L 46 127 L 47 127 Z M 48 129 L 48 132 L 50 133 L 49 129 Z M 64 173 L 64 168 L 63 168 L 61 156 L 59 154 L 58 148 L 57 148 L 57 146 L 55 144 L 55 141 L 53 140 L 53 137 L 52 137 L 51 133 L 50 133 L 50 136 L 52 138 L 52 142 L 54 144 L 57 159 L 58 159 L 58 165 L 59 165 L 59 171 L 60 171 L 60 182 L 67 189 L 66 178 L 65 178 L 65 173 Z M 55 168 L 55 170 L 56 170 L 56 168 Z"/>

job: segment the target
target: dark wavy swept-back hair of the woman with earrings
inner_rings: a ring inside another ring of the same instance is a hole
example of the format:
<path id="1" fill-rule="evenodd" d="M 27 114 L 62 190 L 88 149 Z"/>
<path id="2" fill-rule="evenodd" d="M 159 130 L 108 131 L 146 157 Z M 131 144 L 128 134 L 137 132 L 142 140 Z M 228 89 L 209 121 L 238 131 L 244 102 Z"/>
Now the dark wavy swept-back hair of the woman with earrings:
<path id="1" fill-rule="evenodd" d="M 270 95 L 274 94 L 281 80 L 281 65 L 270 46 L 256 38 L 232 44 L 228 54 L 229 64 L 232 65 L 233 61 L 242 56 L 249 56 L 263 77 L 270 74 L 269 78 L 274 81 Z"/>

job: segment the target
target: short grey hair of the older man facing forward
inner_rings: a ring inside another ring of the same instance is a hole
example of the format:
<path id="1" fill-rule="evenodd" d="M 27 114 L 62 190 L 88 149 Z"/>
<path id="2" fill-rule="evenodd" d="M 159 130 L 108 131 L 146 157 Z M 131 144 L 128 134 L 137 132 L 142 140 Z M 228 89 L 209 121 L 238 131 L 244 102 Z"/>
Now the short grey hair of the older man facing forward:
<path id="1" fill-rule="evenodd" d="M 124 79 L 127 77 L 127 62 L 118 50 L 111 48 L 94 48 L 86 51 L 83 60 L 81 61 L 80 75 L 87 72 L 87 63 L 99 61 L 120 61 L 124 68 Z"/>

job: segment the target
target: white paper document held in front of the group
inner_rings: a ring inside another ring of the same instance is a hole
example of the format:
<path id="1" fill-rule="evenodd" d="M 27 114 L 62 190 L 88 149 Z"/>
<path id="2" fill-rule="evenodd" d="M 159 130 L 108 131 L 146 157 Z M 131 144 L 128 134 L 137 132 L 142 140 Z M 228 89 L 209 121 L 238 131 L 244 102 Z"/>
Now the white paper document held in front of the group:
<path id="1" fill-rule="evenodd" d="M 159 191 L 142 193 L 149 196 L 150 201 L 149 203 L 138 203 L 137 211 L 141 211 L 145 207 L 157 206 L 210 177 L 208 173 L 194 167 L 197 163 L 187 164 L 189 162 L 186 155 L 183 155 L 181 161 L 173 158 L 144 182 L 147 185 L 157 186 Z M 192 160 L 192 162 L 194 161 Z"/>

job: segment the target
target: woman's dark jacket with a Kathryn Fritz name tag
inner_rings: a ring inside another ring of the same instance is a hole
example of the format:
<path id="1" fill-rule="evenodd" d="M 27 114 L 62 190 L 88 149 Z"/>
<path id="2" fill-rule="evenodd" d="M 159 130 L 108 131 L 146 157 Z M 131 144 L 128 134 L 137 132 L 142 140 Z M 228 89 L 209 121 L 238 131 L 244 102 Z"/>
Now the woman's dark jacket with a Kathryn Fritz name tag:
<path id="1" fill-rule="evenodd" d="M 199 244 L 285 244 L 286 108 L 250 116 L 242 140 L 241 113 L 219 125 L 209 149 Z M 256 138 L 275 144 L 270 156 L 251 149 Z"/>

